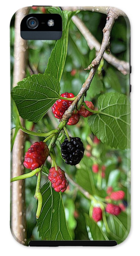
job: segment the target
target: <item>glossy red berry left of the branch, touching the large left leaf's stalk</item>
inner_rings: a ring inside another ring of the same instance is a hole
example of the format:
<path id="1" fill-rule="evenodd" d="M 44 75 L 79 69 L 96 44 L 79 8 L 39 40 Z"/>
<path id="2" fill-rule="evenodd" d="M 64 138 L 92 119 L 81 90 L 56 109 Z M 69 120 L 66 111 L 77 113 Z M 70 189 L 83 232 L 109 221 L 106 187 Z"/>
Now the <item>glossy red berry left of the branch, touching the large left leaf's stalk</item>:
<path id="1" fill-rule="evenodd" d="M 61 94 L 61 97 L 64 98 L 73 98 L 73 93 L 65 92 Z M 61 119 L 65 113 L 65 111 L 69 108 L 69 106 L 72 104 L 73 100 L 57 100 L 55 104 L 52 106 L 52 112 L 54 116 L 58 119 Z"/>

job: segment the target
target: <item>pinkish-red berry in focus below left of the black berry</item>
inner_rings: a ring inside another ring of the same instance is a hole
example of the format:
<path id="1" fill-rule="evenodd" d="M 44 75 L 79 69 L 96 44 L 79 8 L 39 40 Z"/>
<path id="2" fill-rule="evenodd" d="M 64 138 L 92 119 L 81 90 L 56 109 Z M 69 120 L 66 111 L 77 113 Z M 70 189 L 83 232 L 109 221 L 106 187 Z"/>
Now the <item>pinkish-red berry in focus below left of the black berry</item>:
<path id="1" fill-rule="evenodd" d="M 51 186 L 56 192 L 64 192 L 68 187 L 65 172 L 59 166 L 57 166 L 57 170 L 55 170 L 55 167 L 49 169 L 48 179 L 51 181 Z"/>

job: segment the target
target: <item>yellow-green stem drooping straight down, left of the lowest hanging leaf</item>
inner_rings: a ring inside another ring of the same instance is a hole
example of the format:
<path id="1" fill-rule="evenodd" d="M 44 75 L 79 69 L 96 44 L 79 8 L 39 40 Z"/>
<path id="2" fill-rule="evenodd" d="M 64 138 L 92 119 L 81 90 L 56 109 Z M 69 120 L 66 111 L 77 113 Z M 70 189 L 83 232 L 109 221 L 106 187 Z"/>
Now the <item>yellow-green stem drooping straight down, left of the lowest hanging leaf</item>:
<path id="1" fill-rule="evenodd" d="M 42 209 L 42 195 L 40 192 L 40 182 L 41 182 L 41 171 L 38 172 L 36 190 L 34 197 L 38 200 L 37 210 L 36 210 L 36 218 L 38 219 L 40 216 L 40 212 Z"/>

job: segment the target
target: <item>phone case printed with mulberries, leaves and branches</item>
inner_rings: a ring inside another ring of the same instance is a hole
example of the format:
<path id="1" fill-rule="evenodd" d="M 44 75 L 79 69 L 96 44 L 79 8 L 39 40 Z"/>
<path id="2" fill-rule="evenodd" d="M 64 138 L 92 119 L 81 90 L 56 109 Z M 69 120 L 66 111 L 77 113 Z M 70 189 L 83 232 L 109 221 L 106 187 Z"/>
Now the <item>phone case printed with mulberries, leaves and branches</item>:
<path id="1" fill-rule="evenodd" d="M 28 14 L 59 40 L 24 40 Z M 113 7 L 18 10 L 10 23 L 11 232 L 23 245 L 111 246 L 130 231 L 130 23 Z"/>

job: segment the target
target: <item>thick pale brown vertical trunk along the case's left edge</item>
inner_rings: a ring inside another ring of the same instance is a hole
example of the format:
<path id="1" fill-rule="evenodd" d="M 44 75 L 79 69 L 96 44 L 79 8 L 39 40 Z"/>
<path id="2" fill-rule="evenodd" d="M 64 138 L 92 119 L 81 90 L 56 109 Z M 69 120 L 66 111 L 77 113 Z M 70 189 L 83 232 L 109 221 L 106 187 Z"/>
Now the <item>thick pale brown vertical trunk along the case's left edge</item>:
<path id="1" fill-rule="evenodd" d="M 27 64 L 27 41 L 20 36 L 21 20 L 28 14 L 29 8 L 22 8 L 15 14 L 14 38 L 14 73 L 13 87 L 25 77 Z M 21 119 L 23 124 L 23 120 Z M 19 130 L 12 150 L 12 177 L 23 174 L 24 133 Z M 11 184 L 11 231 L 14 238 L 23 245 L 27 245 L 26 216 L 25 216 L 25 181 L 14 181 Z"/>

